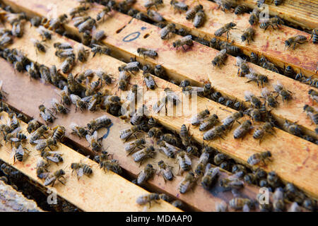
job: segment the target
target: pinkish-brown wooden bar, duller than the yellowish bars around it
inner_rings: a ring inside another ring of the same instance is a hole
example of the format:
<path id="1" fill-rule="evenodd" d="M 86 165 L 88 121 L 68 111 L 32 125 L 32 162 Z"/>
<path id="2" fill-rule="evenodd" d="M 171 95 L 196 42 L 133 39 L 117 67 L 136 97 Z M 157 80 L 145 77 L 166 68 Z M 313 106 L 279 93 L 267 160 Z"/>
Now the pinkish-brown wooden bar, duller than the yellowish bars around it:
<path id="1" fill-rule="evenodd" d="M 110 63 L 114 64 L 116 61 L 111 61 Z M 119 64 L 119 61 L 117 61 L 117 64 Z M 0 80 L 4 81 L 4 90 L 9 93 L 7 103 L 18 109 L 20 112 L 23 112 L 30 117 L 34 117 L 40 122 L 44 123 L 42 118 L 38 117 L 37 106 L 40 104 L 49 106 L 49 100 L 52 100 L 52 98 L 59 98 L 59 96 L 54 92 L 54 87 L 50 84 L 43 85 L 40 83 L 40 81 L 33 80 L 30 82 L 30 79 L 24 74 L 18 72 L 14 73 L 12 67 L 3 59 L 0 59 L 0 66 L 1 69 L 3 69 L 3 73 L 0 75 Z M 21 90 L 23 90 L 23 92 Z M 15 95 L 15 93 L 20 93 L 21 95 Z M 112 119 L 112 126 L 110 127 L 109 135 L 102 141 L 103 146 L 108 147 L 107 151 L 113 155 L 114 159 L 119 160 L 121 167 L 126 169 L 126 171 L 128 171 L 133 177 L 136 177 L 136 175 L 139 174 L 141 167 L 139 167 L 139 164 L 133 162 L 131 157 L 126 157 L 124 143 L 119 140 L 119 132 L 122 129 L 129 128 L 131 126 L 129 123 L 125 123 L 117 117 L 113 117 L 112 115 L 105 112 L 84 111 L 83 113 L 76 113 L 75 107 L 73 105 L 70 107 L 70 109 L 71 112 L 69 114 L 65 116 L 58 115 L 58 118 L 54 120 L 54 124 L 52 124 L 52 126 L 59 124 L 65 126 L 66 137 L 71 139 L 71 141 L 75 142 L 77 145 L 81 146 L 83 150 L 88 150 L 88 148 L 86 148 L 88 145 L 87 141 L 71 134 L 69 124 L 71 124 L 71 121 L 73 121 L 76 124 L 84 125 L 87 121 L 90 121 L 90 119 L 106 114 L 107 117 Z M 106 129 L 101 129 L 99 131 L 99 134 L 103 135 L 104 133 L 107 133 Z M 88 151 L 90 151 L 90 155 L 94 154 L 92 150 Z M 220 201 L 228 202 L 232 198 L 232 194 L 230 192 L 217 192 L 218 187 L 213 189 L 210 193 L 202 189 L 201 186 L 196 186 L 196 189 L 194 190 L 195 192 L 193 193 L 190 192 L 189 194 L 180 196 L 179 192 L 177 191 L 177 186 L 182 177 L 177 175 L 177 165 L 175 163 L 175 159 L 167 158 L 163 155 L 163 153 L 157 153 L 155 158 L 149 161 L 155 167 L 158 160 L 164 160 L 168 165 L 174 166 L 172 170 L 175 174 L 175 179 L 172 182 L 164 183 L 161 176 L 159 177 L 155 175 L 155 177 L 148 182 L 152 189 L 165 192 L 173 197 L 177 197 L 184 203 L 192 206 L 194 210 L 202 211 L 215 211 L 216 203 Z M 194 166 L 195 165 L 196 158 L 194 157 Z M 228 176 L 228 172 L 220 173 L 220 179 Z M 242 191 L 242 194 L 249 198 L 255 198 L 257 193 L 257 186 L 249 186 L 248 184 L 245 185 L 245 189 Z"/>

